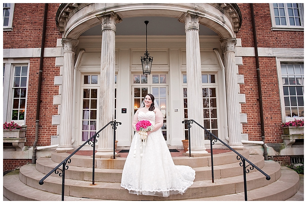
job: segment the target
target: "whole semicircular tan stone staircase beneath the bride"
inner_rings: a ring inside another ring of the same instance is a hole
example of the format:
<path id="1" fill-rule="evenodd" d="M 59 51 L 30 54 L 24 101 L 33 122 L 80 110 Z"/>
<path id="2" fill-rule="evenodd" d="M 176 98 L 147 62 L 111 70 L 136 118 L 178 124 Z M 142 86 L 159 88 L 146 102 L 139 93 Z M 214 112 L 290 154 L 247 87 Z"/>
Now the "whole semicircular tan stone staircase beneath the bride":
<path id="1" fill-rule="evenodd" d="M 238 151 L 271 179 L 257 170 L 247 174 L 248 200 L 283 201 L 300 188 L 299 175 L 274 161 L 264 161 L 261 155 L 249 155 L 248 150 Z M 52 174 L 43 185 L 39 181 L 69 154 L 52 153 L 51 158 L 39 158 L 37 164 L 27 164 L 18 171 L 3 177 L 3 195 L 11 201 L 60 201 L 62 177 Z M 129 194 L 120 187 L 122 168 L 126 158 L 95 159 L 95 185 L 92 186 L 92 158 L 74 155 L 65 171 L 66 201 L 77 200 L 229 200 L 244 201 L 243 168 L 236 155 L 227 152 L 214 155 L 214 181 L 211 181 L 211 158 L 173 157 L 176 165 L 188 165 L 196 171 L 194 183 L 183 194 L 168 198 Z"/>

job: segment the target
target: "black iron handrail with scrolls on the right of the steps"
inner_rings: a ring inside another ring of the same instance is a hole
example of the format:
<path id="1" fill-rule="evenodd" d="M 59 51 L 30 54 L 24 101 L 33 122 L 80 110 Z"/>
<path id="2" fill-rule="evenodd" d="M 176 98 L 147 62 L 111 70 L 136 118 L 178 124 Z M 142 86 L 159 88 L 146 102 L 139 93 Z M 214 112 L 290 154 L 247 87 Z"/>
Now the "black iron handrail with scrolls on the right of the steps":
<path id="1" fill-rule="evenodd" d="M 206 134 L 209 134 L 210 137 L 208 139 L 210 139 L 210 148 L 211 148 L 211 176 L 212 176 L 212 183 L 214 183 L 214 174 L 213 174 L 213 151 L 212 151 L 212 145 L 214 145 L 217 140 L 219 140 L 223 145 L 225 145 L 226 147 L 228 147 L 231 151 L 235 152 L 237 154 L 237 160 L 241 159 L 241 162 L 239 163 L 239 165 L 241 167 L 243 167 L 243 180 L 244 180 L 244 199 L 245 201 L 247 201 L 247 186 L 246 186 L 246 173 L 249 173 L 250 170 L 253 170 L 254 168 L 257 169 L 259 172 L 261 172 L 263 175 L 266 176 L 266 180 L 270 180 L 271 177 L 269 175 L 267 175 L 264 171 L 262 171 L 261 169 L 259 169 L 255 164 L 253 164 L 251 161 L 249 161 L 248 159 L 246 159 L 245 157 L 243 157 L 241 154 L 239 154 L 237 151 L 235 151 L 233 148 L 231 148 L 230 146 L 228 146 L 226 143 L 224 143 L 221 139 L 219 139 L 218 137 L 216 137 L 215 135 L 213 135 L 210 131 L 208 131 L 206 128 L 204 128 L 203 126 L 201 126 L 200 124 L 198 124 L 195 120 L 184 120 L 182 121 L 182 123 L 188 123 L 188 137 L 189 137 L 189 156 L 191 157 L 191 143 L 190 143 L 190 128 L 191 128 L 191 124 L 196 123 L 199 127 L 203 128 L 206 131 Z M 212 141 L 212 137 L 214 137 L 215 139 L 213 139 Z M 247 161 L 249 163 L 249 165 L 245 165 L 245 161 Z M 249 167 L 251 166 L 251 167 Z M 249 167 L 249 169 L 247 168 Z"/>

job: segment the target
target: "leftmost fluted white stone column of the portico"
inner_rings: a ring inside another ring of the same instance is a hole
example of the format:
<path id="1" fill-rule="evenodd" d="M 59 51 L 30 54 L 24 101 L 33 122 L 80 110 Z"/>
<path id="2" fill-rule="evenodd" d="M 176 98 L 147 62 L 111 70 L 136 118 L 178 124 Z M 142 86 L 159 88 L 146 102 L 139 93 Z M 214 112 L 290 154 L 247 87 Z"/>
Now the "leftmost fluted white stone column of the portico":
<path id="1" fill-rule="evenodd" d="M 74 86 L 74 61 L 78 45 L 77 40 L 62 39 L 64 47 L 64 65 L 62 70 L 62 101 L 60 114 L 60 144 L 57 152 L 73 150 L 72 147 L 72 106 Z"/>

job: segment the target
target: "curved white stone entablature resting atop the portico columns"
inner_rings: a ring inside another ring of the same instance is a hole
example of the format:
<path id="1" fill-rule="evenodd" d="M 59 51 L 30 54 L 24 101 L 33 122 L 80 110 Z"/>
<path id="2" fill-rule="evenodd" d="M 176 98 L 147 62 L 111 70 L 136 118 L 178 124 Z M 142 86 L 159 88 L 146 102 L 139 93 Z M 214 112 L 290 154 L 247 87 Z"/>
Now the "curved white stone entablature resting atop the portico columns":
<path id="1" fill-rule="evenodd" d="M 78 39 L 87 29 L 101 24 L 97 14 L 115 12 L 120 18 L 139 16 L 165 16 L 180 18 L 187 11 L 204 15 L 199 23 L 214 30 L 221 39 L 235 37 L 235 31 L 241 26 L 241 13 L 236 4 L 230 3 L 63 3 L 57 14 L 58 29 L 63 38 Z"/>

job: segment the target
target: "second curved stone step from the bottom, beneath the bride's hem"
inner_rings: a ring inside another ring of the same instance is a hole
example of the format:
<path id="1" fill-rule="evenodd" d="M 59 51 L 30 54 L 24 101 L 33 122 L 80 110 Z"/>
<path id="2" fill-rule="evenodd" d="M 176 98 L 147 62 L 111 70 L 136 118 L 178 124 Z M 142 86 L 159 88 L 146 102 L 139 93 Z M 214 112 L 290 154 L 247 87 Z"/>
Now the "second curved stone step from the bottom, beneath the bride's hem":
<path id="1" fill-rule="evenodd" d="M 268 185 L 280 177 L 280 165 L 278 163 L 266 163 L 262 170 L 270 175 L 271 180 L 267 181 L 258 171 L 251 172 L 247 174 L 248 190 Z M 49 191 L 50 193 L 61 194 L 62 178 L 54 176 L 48 177 L 45 179 L 43 185 L 39 185 L 39 180 L 43 178 L 45 174 L 36 171 L 35 165 L 33 164 L 27 164 L 21 167 L 19 175 L 20 180 L 27 186 L 43 191 Z M 129 194 L 128 190 L 121 188 L 120 183 L 118 182 L 95 182 L 95 186 L 91 186 L 91 182 L 88 181 L 65 179 L 65 195 L 80 198 L 110 200 L 177 200 L 220 196 L 239 192 L 243 192 L 243 175 L 215 179 L 215 183 L 212 183 L 209 180 L 196 181 L 188 188 L 185 194 L 171 195 L 168 198 Z"/>

